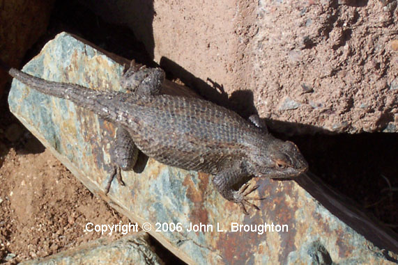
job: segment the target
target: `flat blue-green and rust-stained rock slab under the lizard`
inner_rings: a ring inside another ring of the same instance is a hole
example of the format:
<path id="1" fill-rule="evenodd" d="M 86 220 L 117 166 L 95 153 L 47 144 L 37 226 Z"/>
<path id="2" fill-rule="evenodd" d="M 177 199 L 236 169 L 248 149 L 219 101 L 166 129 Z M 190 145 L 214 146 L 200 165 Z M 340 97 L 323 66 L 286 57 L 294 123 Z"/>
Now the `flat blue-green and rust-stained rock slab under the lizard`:
<path id="1" fill-rule="evenodd" d="M 120 89 L 118 77 L 122 69 L 98 49 L 66 33 L 47 43 L 24 67 L 24 71 L 52 81 L 105 90 Z M 208 175 L 141 157 L 135 172 L 123 172 L 126 186 L 114 182 L 105 196 L 112 125 L 66 100 L 42 95 L 17 81 L 13 82 L 9 104 L 17 118 L 90 191 L 141 227 L 146 223 L 148 228 L 150 224 L 148 233 L 185 262 L 326 260 L 379 264 L 387 259 L 397 260 L 394 252 L 383 252 L 374 246 L 292 181 L 252 179 L 252 183 L 260 185 L 257 195 L 267 200 L 259 203 L 261 211 L 247 216 L 238 205 L 227 202 L 215 191 Z M 234 232 L 231 223 L 243 227 Z M 190 231 L 191 225 L 198 225 L 199 230 Z M 261 225 L 268 231 L 261 232 Z M 284 232 L 279 230 L 282 225 L 287 225 Z M 381 238 L 396 242 L 385 234 Z"/>

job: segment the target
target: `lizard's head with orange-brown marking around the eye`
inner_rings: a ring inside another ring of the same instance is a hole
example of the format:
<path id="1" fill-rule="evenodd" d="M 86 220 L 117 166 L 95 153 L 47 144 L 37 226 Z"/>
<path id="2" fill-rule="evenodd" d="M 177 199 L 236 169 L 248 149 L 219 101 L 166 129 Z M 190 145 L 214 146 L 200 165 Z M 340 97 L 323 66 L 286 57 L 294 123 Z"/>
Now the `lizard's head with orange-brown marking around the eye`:
<path id="1" fill-rule="evenodd" d="M 249 153 L 248 171 L 256 177 L 296 177 L 308 169 L 308 163 L 298 147 L 277 138 L 268 138 L 268 144 L 257 145 Z M 254 152 L 253 152 L 254 151 Z"/>

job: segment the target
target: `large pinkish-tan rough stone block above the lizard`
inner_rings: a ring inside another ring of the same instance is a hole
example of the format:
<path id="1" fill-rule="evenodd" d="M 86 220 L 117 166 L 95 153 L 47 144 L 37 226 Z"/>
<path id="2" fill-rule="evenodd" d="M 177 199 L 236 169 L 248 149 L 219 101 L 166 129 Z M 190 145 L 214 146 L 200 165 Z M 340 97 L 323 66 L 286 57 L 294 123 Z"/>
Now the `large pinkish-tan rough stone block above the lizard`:
<path id="1" fill-rule="evenodd" d="M 250 90 L 261 117 L 314 126 L 296 133 L 398 131 L 397 1 L 85 2 L 213 100 Z"/>

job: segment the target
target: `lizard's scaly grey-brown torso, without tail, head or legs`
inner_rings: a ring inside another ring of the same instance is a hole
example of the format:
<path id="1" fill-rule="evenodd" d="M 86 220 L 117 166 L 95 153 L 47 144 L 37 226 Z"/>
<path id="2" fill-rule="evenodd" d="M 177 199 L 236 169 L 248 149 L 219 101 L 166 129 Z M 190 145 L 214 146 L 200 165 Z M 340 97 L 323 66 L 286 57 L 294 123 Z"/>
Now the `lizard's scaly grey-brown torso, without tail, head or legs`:
<path id="1" fill-rule="evenodd" d="M 121 109 L 128 110 L 122 123 L 142 152 L 188 170 L 216 174 L 232 166 L 259 133 L 233 111 L 202 99 L 132 96 Z"/>

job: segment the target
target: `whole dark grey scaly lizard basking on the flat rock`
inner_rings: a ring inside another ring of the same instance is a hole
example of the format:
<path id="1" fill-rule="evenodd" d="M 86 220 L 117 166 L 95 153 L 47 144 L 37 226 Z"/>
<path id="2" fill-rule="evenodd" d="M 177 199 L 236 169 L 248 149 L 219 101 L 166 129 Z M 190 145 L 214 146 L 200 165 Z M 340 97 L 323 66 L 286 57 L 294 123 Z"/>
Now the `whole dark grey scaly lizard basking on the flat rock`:
<path id="1" fill-rule="evenodd" d="M 3 65 L 4 67 L 4 65 Z M 41 93 L 68 99 L 89 109 L 117 127 L 112 151 L 114 176 L 130 170 L 137 159 L 135 145 L 144 154 L 169 166 L 214 175 L 213 184 L 221 195 L 240 204 L 258 207 L 247 196 L 257 186 L 234 186 L 248 176 L 285 178 L 307 171 L 298 147 L 268 133 L 257 115 L 250 121 L 234 111 L 203 99 L 161 95 L 164 72 L 160 68 L 130 65 L 121 85 L 132 93 L 92 90 L 72 83 L 46 81 L 15 68 L 8 73 Z M 123 183 L 123 182 L 122 182 Z"/>

